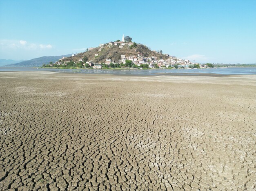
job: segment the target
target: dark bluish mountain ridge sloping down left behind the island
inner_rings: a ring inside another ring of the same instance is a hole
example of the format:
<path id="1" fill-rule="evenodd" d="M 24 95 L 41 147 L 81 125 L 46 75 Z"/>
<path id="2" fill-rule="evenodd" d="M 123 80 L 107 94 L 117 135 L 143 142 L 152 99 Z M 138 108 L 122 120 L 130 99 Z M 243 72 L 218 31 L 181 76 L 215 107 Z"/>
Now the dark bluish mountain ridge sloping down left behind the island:
<path id="1" fill-rule="evenodd" d="M 5 63 L 4 66 L 27 66 L 27 67 L 33 67 L 33 66 L 39 66 L 41 67 L 43 64 L 48 64 L 49 62 L 53 62 L 55 63 L 56 61 L 58 61 L 59 59 L 62 59 L 63 57 L 69 57 L 72 54 L 67 54 L 67 55 L 61 55 L 61 56 L 42 56 L 40 58 L 36 58 L 36 59 L 31 59 L 28 61 L 18 61 L 18 63 Z"/>

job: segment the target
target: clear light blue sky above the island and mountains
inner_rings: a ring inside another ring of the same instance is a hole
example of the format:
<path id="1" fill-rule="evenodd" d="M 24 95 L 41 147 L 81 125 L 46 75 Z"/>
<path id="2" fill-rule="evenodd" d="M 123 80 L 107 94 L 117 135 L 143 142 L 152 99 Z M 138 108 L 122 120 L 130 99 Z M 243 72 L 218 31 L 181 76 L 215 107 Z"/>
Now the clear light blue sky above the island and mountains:
<path id="1" fill-rule="evenodd" d="M 132 37 L 199 63 L 256 63 L 256 0 L 0 0 L 0 59 Z"/>

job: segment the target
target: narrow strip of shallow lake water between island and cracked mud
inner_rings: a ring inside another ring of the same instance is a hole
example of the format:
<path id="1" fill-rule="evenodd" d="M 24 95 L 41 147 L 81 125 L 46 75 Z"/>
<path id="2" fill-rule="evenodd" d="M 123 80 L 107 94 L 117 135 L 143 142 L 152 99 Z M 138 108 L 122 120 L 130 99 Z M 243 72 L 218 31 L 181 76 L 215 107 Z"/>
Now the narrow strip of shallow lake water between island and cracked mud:
<path id="1" fill-rule="evenodd" d="M 228 67 L 205 69 L 53 69 L 35 67 L 0 67 L 0 71 L 48 71 L 83 74 L 116 74 L 116 75 L 196 75 L 196 74 L 223 74 L 223 75 L 255 75 L 256 67 Z"/>

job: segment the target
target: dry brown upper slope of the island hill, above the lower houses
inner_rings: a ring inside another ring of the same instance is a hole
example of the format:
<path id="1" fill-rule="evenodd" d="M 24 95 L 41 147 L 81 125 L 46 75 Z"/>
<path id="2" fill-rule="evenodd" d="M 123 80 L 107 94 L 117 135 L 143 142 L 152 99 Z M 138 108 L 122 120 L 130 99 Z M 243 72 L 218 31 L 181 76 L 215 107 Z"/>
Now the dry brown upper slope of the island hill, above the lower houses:
<path id="1" fill-rule="evenodd" d="M 63 59 L 63 61 L 77 62 L 87 56 L 89 61 L 92 61 L 93 63 L 104 63 L 106 59 L 118 62 L 121 59 L 121 55 L 125 55 L 127 58 L 128 56 L 137 56 L 138 53 L 145 57 L 154 56 L 157 59 L 168 59 L 168 56 L 152 51 L 150 48 L 142 44 L 135 43 L 132 46 L 124 45 L 122 48 L 119 48 L 119 46 L 112 44 L 109 45 L 109 43 L 106 43 L 100 47 L 93 48 L 92 50 L 79 53 L 76 56 Z"/>

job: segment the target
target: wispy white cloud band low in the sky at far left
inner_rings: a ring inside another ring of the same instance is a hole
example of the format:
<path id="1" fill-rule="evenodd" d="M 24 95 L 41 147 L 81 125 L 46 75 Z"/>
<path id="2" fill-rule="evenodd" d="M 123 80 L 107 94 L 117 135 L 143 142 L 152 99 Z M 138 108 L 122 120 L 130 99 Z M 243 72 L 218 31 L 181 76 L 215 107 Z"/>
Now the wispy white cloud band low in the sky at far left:
<path id="1" fill-rule="evenodd" d="M 2 49 L 24 49 L 24 50 L 40 50 L 40 49 L 51 49 L 51 44 L 36 44 L 28 43 L 25 40 L 0 40 L 0 46 Z"/>

